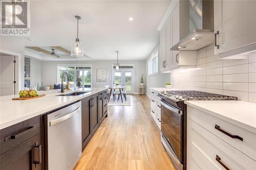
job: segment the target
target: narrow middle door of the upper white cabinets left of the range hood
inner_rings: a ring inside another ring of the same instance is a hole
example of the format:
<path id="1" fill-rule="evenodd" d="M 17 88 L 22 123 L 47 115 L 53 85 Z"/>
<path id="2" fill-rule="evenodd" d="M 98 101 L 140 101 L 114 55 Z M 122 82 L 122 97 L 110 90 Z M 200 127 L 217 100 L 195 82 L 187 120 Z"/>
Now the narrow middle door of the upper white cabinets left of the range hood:
<path id="1" fill-rule="evenodd" d="M 164 63 L 164 68 L 169 69 L 172 63 L 172 51 L 170 51 L 170 47 L 172 47 L 172 37 L 171 37 L 171 25 L 170 25 L 170 17 L 166 22 L 166 62 Z"/>

